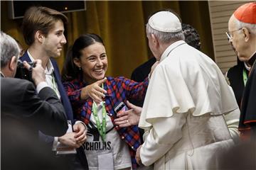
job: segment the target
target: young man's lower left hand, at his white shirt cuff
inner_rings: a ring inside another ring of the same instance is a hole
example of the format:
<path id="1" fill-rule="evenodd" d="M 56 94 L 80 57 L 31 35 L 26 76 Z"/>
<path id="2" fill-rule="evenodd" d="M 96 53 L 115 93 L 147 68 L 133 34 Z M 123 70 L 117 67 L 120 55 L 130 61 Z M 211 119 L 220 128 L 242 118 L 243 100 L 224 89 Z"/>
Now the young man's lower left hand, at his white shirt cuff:
<path id="1" fill-rule="evenodd" d="M 58 137 L 58 142 L 68 145 L 69 147 L 78 148 L 81 145 L 75 140 L 75 132 L 67 132 L 62 137 Z"/>

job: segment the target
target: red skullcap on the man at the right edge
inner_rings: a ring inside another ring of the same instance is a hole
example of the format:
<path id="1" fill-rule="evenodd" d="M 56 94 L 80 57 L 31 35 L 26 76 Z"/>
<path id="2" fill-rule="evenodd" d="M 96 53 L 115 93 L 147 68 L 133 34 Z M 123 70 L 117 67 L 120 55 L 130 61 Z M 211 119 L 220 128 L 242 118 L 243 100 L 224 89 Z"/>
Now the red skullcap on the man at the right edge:
<path id="1" fill-rule="evenodd" d="M 242 23 L 256 24 L 256 2 L 251 2 L 240 6 L 234 12 L 235 18 Z"/>

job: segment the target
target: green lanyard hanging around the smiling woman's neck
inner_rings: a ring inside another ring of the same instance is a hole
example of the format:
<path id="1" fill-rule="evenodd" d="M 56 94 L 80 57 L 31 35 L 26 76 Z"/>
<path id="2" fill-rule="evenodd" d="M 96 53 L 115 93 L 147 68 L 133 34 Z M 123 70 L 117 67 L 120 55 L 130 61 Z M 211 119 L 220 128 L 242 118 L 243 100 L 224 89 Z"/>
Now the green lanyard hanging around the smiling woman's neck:
<path id="1" fill-rule="evenodd" d="M 104 86 L 102 84 L 102 89 L 104 89 Z M 100 125 L 100 119 L 97 116 L 97 104 L 95 103 L 95 101 L 93 101 L 92 103 L 92 114 L 95 118 L 96 121 L 96 125 L 97 125 L 97 130 L 100 132 L 100 136 L 102 137 L 102 141 L 105 142 L 106 139 L 106 117 L 107 117 L 107 113 L 106 113 L 106 108 L 105 108 L 105 101 L 102 101 L 102 124 Z"/>

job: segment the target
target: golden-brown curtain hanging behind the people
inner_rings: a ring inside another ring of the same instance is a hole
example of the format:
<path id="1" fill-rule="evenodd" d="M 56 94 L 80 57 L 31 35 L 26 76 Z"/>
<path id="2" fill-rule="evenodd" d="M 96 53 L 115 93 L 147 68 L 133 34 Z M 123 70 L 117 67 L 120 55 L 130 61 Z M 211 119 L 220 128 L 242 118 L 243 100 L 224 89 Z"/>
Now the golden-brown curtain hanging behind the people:
<path id="1" fill-rule="evenodd" d="M 183 23 L 196 28 L 202 51 L 214 58 L 207 1 L 86 1 L 86 11 L 66 13 L 69 19 L 65 32 L 68 43 L 57 60 L 60 70 L 74 40 L 84 33 L 97 33 L 107 50 L 107 75 L 129 78 L 134 68 L 152 57 L 145 24 L 151 13 L 162 8 L 173 9 Z M 7 13 L 7 1 L 1 1 L 1 30 L 27 47 L 20 30 L 22 20 L 9 19 Z"/>

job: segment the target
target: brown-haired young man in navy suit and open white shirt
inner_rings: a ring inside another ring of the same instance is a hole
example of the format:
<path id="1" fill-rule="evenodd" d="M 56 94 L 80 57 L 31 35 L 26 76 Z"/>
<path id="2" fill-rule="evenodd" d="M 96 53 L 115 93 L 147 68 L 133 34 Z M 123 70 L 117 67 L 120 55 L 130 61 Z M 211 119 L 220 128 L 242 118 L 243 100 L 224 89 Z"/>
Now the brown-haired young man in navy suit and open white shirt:
<path id="1" fill-rule="evenodd" d="M 67 163 L 70 169 L 87 169 L 87 160 L 82 149 L 82 143 L 86 140 L 85 125 L 73 118 L 73 111 L 70 105 L 67 94 L 60 81 L 60 73 L 58 65 L 53 58 L 59 57 L 63 45 L 65 45 L 64 25 L 68 22 L 68 18 L 58 11 L 43 6 L 32 6 L 26 11 L 23 23 L 23 37 L 29 45 L 21 60 L 33 62 L 33 60 L 41 59 L 42 66 L 46 72 L 46 83 L 55 91 L 60 101 L 62 101 L 65 108 L 65 113 L 68 120 L 73 125 L 73 132 L 67 132 L 62 137 L 49 137 L 42 133 L 41 138 L 45 140 L 48 145 L 55 147 L 57 142 L 67 145 L 70 148 L 78 148 L 77 156 L 62 155 L 57 160 Z M 49 149 L 50 149 L 49 148 Z"/>

